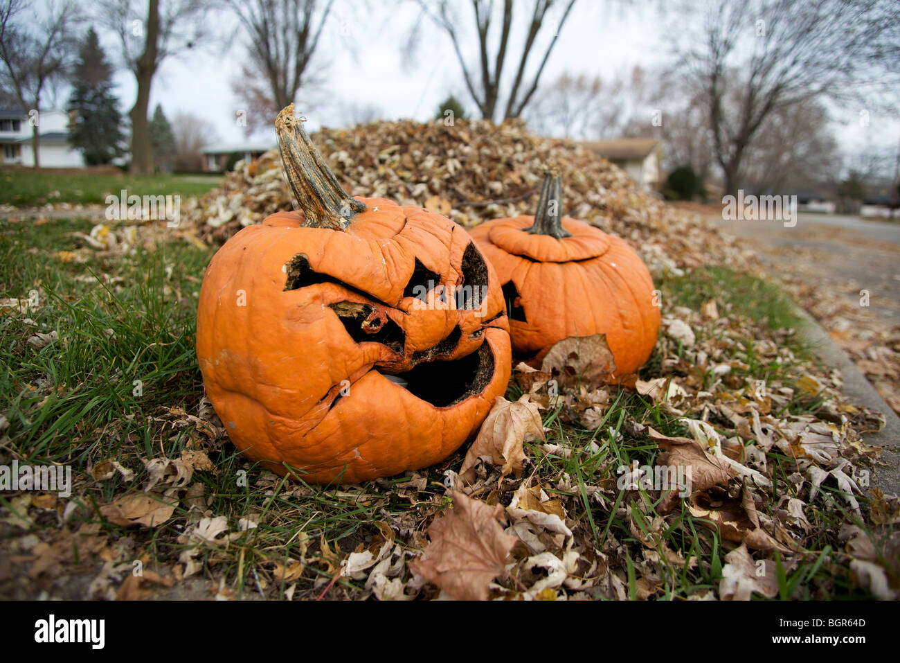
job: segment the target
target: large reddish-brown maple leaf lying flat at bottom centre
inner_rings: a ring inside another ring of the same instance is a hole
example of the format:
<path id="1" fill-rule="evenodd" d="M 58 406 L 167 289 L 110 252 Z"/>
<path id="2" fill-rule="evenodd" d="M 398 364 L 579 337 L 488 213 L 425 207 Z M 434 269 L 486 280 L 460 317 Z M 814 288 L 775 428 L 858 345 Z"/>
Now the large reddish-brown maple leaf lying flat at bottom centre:
<path id="1" fill-rule="evenodd" d="M 428 527 L 430 542 L 410 568 L 456 600 L 485 600 L 488 585 L 505 572 L 515 537 L 503 532 L 500 504 L 483 502 L 453 491 L 454 508 Z"/>

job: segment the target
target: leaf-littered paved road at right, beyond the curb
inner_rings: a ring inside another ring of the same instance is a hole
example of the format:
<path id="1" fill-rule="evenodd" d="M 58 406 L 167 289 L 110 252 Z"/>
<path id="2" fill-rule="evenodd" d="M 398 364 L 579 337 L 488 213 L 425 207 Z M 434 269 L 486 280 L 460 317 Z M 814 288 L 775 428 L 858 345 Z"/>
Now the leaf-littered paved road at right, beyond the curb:
<path id="1" fill-rule="evenodd" d="M 757 250 L 773 274 L 828 286 L 857 303 L 860 290 L 868 290 L 872 313 L 900 324 L 900 223 L 800 213 L 797 225 L 786 228 L 777 221 L 709 218 Z"/>

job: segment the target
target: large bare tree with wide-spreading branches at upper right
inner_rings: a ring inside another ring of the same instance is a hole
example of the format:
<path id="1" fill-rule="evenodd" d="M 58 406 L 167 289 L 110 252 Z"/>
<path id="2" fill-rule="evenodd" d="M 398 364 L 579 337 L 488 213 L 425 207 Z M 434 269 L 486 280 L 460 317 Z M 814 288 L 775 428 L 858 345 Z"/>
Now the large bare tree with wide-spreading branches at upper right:
<path id="1" fill-rule="evenodd" d="M 855 88 L 878 70 L 896 75 L 896 0 L 715 0 L 679 11 L 680 25 L 701 26 L 677 48 L 706 108 L 728 193 L 771 114 Z M 739 102 L 727 104 L 730 95 Z"/>

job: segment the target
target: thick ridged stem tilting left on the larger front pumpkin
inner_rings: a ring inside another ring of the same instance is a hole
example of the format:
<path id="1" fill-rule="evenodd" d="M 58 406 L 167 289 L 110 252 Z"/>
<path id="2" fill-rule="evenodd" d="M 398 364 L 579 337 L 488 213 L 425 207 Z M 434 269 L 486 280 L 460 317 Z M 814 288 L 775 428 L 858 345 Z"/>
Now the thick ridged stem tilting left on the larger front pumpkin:
<path id="1" fill-rule="evenodd" d="M 365 212 L 365 203 L 345 193 L 309 135 L 303 131 L 303 122 L 302 118 L 294 117 L 293 104 L 282 109 L 275 118 L 284 174 L 303 210 L 303 225 L 346 230 L 356 214 Z"/>

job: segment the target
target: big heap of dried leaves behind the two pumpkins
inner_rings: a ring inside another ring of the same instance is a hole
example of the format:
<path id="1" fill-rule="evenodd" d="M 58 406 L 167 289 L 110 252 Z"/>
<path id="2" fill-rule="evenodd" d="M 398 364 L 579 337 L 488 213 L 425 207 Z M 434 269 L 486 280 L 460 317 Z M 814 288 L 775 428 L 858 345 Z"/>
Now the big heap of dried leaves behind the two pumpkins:
<path id="1" fill-rule="evenodd" d="M 312 140 L 351 195 L 427 207 L 471 227 L 534 213 L 548 164 L 563 175 L 563 213 L 630 241 L 654 273 L 707 263 L 740 268 L 747 255 L 689 212 L 641 191 L 577 143 L 536 137 L 525 123 L 412 121 L 322 129 Z M 224 241 L 266 215 L 293 209 L 277 150 L 238 165 L 222 185 L 187 204 L 187 223 Z M 677 273 L 677 272 L 676 272 Z"/>

